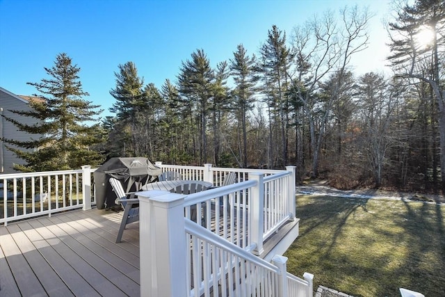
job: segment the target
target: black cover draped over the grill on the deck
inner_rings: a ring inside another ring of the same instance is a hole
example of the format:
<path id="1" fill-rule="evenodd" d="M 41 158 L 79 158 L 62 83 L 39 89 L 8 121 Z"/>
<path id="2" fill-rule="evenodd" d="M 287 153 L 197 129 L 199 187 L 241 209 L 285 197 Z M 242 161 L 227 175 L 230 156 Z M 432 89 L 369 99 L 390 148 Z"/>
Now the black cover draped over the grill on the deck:
<path id="1" fill-rule="evenodd" d="M 124 191 L 139 191 L 140 187 L 161 175 L 161 168 L 154 166 L 147 158 L 111 158 L 93 173 L 97 209 L 113 207 L 116 199 L 108 179 L 119 179 Z"/>

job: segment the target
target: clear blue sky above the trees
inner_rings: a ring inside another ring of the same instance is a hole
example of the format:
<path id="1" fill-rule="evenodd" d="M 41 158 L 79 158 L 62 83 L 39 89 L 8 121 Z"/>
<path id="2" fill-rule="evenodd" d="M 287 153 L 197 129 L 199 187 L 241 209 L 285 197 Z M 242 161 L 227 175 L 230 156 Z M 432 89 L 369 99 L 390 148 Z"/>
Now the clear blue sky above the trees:
<path id="1" fill-rule="evenodd" d="M 243 43 L 257 54 L 275 24 L 288 37 L 314 14 L 344 6 L 368 6 L 369 49 L 353 63 L 358 73 L 382 71 L 387 55 L 381 19 L 389 0 L 0 0 L 0 86 L 32 95 L 26 82 L 47 78 L 56 55 L 65 52 L 79 73 L 86 97 L 110 114 L 118 65 L 133 61 L 145 83 L 176 82 L 181 62 L 204 49 L 211 65 L 232 58 Z"/>

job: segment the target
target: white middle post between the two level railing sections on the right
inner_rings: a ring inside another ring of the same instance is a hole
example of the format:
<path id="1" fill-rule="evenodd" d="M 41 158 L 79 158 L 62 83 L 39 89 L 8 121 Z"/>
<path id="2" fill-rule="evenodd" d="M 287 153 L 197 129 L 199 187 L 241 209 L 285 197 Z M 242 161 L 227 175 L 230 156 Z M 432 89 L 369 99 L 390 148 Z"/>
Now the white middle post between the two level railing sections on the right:
<path id="1" fill-rule="evenodd" d="M 252 195 L 250 200 L 250 244 L 256 243 L 257 248 L 254 252 L 261 255 L 263 249 L 264 234 L 264 174 L 260 172 L 250 172 L 249 180 L 256 180 L 257 185 L 252 187 Z"/>

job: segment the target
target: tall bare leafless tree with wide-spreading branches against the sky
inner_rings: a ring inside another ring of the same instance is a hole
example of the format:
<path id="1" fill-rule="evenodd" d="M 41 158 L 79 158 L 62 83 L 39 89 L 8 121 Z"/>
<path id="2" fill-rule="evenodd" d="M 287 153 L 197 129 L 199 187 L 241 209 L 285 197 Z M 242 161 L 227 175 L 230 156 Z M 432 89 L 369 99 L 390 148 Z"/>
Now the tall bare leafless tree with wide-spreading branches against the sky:
<path id="1" fill-rule="evenodd" d="M 289 76 L 292 78 L 292 90 L 302 102 L 309 121 L 312 177 L 318 176 L 325 127 L 334 102 L 339 99 L 341 82 L 350 65 L 350 59 L 357 52 L 366 49 L 369 38 L 366 25 L 370 17 L 366 9 L 359 10 L 355 6 L 341 10 L 341 22 L 337 22 L 334 13 L 327 12 L 323 18 L 314 17 L 311 22 L 296 27 L 293 31 L 293 54 L 300 57 L 299 64 L 309 65 L 303 75 L 296 67 L 296 72 L 289 73 Z M 334 72 L 337 72 L 337 83 L 331 96 L 321 101 L 316 96 L 320 83 Z M 316 118 L 320 118 L 318 127 Z"/>

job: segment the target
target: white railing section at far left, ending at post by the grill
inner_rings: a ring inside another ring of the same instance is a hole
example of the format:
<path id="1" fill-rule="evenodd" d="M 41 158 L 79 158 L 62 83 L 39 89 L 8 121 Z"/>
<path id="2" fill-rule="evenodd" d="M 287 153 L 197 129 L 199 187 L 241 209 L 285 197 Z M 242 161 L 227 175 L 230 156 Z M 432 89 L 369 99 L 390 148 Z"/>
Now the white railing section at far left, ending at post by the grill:
<path id="1" fill-rule="evenodd" d="M 54 214 L 58 211 L 90 209 L 95 201 L 90 166 L 60 170 L 0 175 L 0 223 Z"/>

